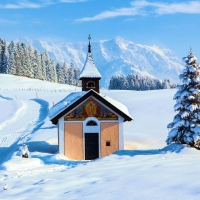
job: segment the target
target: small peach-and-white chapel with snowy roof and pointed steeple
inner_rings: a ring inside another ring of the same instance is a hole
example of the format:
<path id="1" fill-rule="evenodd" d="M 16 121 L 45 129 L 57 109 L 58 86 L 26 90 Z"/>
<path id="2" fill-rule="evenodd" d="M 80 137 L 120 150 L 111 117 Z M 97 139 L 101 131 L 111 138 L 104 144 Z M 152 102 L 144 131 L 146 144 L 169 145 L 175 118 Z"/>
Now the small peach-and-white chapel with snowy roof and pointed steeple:
<path id="1" fill-rule="evenodd" d="M 89 35 L 80 72 L 82 91 L 72 92 L 49 111 L 58 127 L 59 153 L 73 160 L 93 160 L 124 149 L 123 123 L 133 120 L 120 102 L 100 93 L 101 74 L 95 66 Z"/>

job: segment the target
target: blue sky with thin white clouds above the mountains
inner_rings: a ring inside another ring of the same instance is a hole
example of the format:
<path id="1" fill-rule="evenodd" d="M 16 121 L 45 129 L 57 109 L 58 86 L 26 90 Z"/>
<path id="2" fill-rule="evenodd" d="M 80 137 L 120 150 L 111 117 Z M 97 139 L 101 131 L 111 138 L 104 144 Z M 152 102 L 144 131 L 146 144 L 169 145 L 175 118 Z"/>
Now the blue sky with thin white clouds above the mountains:
<path id="1" fill-rule="evenodd" d="M 200 0 L 5 0 L 0 37 L 52 42 L 113 39 L 169 48 L 179 58 L 190 46 L 200 61 Z"/>

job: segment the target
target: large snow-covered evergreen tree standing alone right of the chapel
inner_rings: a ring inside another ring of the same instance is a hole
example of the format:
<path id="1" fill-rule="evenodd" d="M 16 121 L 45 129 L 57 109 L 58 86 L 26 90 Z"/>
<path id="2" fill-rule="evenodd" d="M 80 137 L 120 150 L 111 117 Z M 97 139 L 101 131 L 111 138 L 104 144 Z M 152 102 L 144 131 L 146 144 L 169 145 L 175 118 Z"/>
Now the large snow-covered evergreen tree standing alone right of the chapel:
<path id="1" fill-rule="evenodd" d="M 177 86 L 178 91 L 174 95 L 174 110 L 178 113 L 167 126 L 171 130 L 166 142 L 194 146 L 200 133 L 200 66 L 192 49 L 183 61 L 185 69 L 179 75 L 182 83 Z"/>

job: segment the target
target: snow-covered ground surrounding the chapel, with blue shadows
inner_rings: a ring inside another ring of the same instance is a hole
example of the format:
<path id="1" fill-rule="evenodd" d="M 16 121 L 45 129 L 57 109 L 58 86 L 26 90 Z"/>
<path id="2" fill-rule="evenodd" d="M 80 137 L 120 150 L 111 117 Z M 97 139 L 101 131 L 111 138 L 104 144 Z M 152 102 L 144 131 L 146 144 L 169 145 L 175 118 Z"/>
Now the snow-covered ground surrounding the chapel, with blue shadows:
<path id="1" fill-rule="evenodd" d="M 48 118 L 72 87 L 1 74 L 0 81 L 0 199 L 199 199 L 199 151 L 165 143 L 176 89 L 101 90 L 134 117 L 124 123 L 125 150 L 74 161 L 57 153 L 57 127 Z M 30 158 L 18 154 L 23 143 Z"/>

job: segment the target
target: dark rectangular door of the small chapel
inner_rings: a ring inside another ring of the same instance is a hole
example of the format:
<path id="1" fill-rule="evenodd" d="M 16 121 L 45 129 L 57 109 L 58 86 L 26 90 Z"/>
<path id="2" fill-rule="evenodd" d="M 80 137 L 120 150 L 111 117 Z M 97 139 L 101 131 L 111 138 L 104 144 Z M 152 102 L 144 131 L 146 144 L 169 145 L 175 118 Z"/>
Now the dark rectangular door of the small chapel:
<path id="1" fill-rule="evenodd" d="M 99 158 L 99 134 L 85 133 L 85 160 Z"/>

